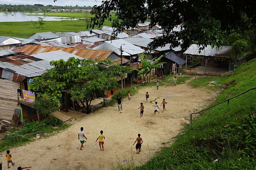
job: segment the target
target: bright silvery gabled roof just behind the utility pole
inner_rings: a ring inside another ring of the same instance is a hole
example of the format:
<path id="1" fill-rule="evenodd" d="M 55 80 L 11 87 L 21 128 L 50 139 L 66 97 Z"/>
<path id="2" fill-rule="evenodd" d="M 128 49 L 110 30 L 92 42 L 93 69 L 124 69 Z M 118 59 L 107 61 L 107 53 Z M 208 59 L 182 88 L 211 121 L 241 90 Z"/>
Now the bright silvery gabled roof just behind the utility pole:
<path id="1" fill-rule="evenodd" d="M 110 50 L 110 51 L 114 51 L 118 55 L 121 55 L 121 52 L 120 52 L 121 44 L 123 44 L 122 45 L 122 49 L 124 50 L 123 55 L 130 56 L 130 55 L 140 54 L 144 52 L 143 49 L 131 44 L 130 42 L 125 41 L 125 39 L 104 41 L 102 44 L 92 49 Z"/>

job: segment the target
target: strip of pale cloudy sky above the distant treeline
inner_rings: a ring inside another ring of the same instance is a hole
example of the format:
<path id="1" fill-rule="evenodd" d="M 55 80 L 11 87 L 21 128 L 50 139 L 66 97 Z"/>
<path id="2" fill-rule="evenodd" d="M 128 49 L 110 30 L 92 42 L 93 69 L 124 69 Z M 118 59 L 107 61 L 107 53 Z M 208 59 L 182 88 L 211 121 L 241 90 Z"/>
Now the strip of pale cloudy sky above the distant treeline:
<path id="1" fill-rule="evenodd" d="M 56 5 L 56 6 L 66 6 L 66 5 L 72 5 L 72 6 L 93 6 L 93 5 L 100 5 L 102 0 L 57 0 L 57 2 L 53 2 L 53 0 L 0 0 L 0 4 L 43 4 L 46 5 Z"/>

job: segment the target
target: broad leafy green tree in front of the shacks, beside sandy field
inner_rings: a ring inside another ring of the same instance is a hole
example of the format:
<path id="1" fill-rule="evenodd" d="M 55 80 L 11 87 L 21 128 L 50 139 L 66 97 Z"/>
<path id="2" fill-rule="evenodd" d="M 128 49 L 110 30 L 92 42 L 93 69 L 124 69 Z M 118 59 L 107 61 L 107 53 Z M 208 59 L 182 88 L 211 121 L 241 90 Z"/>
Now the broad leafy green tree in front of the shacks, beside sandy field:
<path id="1" fill-rule="evenodd" d="M 60 97 L 61 90 L 67 90 L 72 100 L 83 100 L 87 113 L 93 98 L 103 97 L 103 91 L 114 90 L 119 86 L 116 76 L 124 78 L 131 68 L 120 66 L 109 59 L 80 60 L 74 57 L 50 62 L 54 67 L 47 70 L 41 77 L 34 78 L 29 88 L 32 91 L 41 90 L 52 97 Z M 106 67 L 106 65 L 112 65 Z"/>

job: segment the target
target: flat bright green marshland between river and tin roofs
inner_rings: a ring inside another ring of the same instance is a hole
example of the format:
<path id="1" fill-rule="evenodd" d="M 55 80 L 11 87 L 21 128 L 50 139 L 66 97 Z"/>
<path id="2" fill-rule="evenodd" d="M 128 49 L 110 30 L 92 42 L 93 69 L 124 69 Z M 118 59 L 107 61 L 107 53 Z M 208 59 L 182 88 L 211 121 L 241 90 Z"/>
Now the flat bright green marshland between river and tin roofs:
<path id="1" fill-rule="evenodd" d="M 51 13 L 51 14 L 58 14 L 58 17 L 65 17 L 61 16 L 62 13 Z M 82 13 L 64 13 L 66 17 L 83 17 Z M 63 15 L 64 15 L 63 14 Z M 57 16 L 56 16 L 57 17 Z M 78 17 L 78 18 L 80 18 Z M 114 15 L 112 15 L 115 18 Z M 79 32 L 85 31 L 87 22 L 86 19 L 80 20 L 62 20 L 62 21 L 43 21 L 44 25 L 41 28 L 36 28 L 33 25 L 34 21 L 24 21 L 24 22 L 0 22 L 0 36 L 10 36 L 10 37 L 20 37 L 20 38 L 28 38 L 34 33 L 39 32 L 48 32 L 51 31 L 52 33 L 58 32 Z M 112 21 L 106 20 L 104 22 L 104 26 L 111 26 Z M 92 28 L 89 28 L 92 29 Z M 95 27 L 94 29 L 98 29 Z"/>

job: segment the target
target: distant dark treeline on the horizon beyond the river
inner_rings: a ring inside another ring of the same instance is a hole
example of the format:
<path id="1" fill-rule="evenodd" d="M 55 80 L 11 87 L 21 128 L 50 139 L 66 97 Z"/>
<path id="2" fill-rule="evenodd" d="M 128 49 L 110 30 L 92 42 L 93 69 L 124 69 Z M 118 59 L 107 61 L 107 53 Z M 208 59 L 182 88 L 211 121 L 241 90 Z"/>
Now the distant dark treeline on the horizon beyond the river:
<path id="1" fill-rule="evenodd" d="M 0 11 L 47 11 L 47 9 L 65 9 L 68 10 L 72 7 L 72 9 L 85 9 L 91 10 L 91 6 L 56 6 L 56 5 L 42 5 L 42 4 L 35 4 L 35 5 L 7 5 L 7 4 L 0 4 Z"/>

